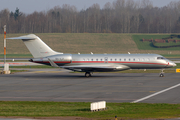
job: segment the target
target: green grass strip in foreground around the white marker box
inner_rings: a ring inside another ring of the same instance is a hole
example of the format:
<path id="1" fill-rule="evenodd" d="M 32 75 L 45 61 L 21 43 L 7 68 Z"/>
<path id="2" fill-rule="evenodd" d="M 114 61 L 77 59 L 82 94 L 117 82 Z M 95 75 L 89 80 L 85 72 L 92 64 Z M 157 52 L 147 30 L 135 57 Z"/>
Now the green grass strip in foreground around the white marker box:
<path id="1" fill-rule="evenodd" d="M 90 112 L 85 102 L 0 102 L 0 116 L 76 116 L 95 119 L 178 118 L 180 104 L 107 103 L 107 110 Z"/>

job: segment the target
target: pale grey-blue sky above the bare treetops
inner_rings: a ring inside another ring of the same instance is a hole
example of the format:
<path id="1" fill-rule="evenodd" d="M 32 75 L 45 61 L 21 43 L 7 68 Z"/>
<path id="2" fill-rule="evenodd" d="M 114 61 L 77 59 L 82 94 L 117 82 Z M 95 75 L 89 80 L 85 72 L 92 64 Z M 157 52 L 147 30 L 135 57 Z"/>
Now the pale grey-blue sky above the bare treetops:
<path id="1" fill-rule="evenodd" d="M 115 0 L 0 0 L 0 10 L 8 8 L 10 11 L 15 11 L 18 7 L 23 13 L 33 13 L 34 11 L 47 11 L 54 6 L 62 6 L 63 4 L 74 5 L 78 10 L 86 9 L 94 3 L 98 3 L 101 8 L 107 2 Z M 139 1 L 139 0 L 135 0 Z M 162 7 L 169 4 L 171 1 L 180 0 L 151 0 L 154 6 Z"/>

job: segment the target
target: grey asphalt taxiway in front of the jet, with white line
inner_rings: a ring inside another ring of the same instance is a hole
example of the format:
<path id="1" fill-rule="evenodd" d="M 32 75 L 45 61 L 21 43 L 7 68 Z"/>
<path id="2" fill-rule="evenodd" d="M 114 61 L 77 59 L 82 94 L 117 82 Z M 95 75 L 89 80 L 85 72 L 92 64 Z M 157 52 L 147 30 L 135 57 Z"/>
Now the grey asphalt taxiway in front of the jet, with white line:
<path id="1" fill-rule="evenodd" d="M 180 103 L 179 92 L 178 73 L 163 78 L 157 73 L 95 73 L 86 78 L 84 73 L 47 70 L 0 75 L 0 101 Z"/>

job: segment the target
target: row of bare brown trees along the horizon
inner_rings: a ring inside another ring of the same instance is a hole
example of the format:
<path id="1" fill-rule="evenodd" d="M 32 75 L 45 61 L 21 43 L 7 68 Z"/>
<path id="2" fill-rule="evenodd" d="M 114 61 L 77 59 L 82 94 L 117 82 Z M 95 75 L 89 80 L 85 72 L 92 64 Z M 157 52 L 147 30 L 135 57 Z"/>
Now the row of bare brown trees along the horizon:
<path id="1" fill-rule="evenodd" d="M 80 11 L 64 4 L 31 14 L 4 9 L 0 26 L 5 24 L 8 33 L 179 33 L 180 1 L 154 7 L 150 0 L 115 0 Z"/>

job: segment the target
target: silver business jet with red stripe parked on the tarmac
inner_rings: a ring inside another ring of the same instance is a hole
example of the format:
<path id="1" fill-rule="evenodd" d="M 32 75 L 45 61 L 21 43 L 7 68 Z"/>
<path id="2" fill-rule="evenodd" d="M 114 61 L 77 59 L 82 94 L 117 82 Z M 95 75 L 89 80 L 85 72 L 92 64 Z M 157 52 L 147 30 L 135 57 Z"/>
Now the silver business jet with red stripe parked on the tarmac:
<path id="1" fill-rule="evenodd" d="M 31 62 L 85 72 L 85 77 L 91 77 L 93 72 L 129 69 L 162 69 L 160 77 L 164 77 L 163 69 L 176 66 L 158 54 L 64 54 L 52 50 L 34 34 L 7 39 L 22 39 L 34 57 Z"/>

